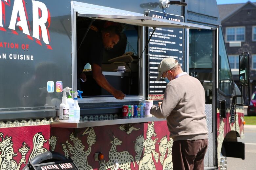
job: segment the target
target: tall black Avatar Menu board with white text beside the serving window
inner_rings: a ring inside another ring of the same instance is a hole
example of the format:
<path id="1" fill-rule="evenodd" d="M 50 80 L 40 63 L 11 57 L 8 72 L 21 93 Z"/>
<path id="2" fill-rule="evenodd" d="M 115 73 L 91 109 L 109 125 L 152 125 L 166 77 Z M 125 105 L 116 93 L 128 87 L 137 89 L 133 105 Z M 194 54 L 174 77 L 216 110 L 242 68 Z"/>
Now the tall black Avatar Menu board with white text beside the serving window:
<path id="1" fill-rule="evenodd" d="M 163 12 L 148 11 L 149 17 L 162 18 L 183 22 L 183 17 Z M 174 58 L 179 61 L 183 69 L 183 28 L 157 27 L 148 44 L 148 100 L 162 100 L 166 82 L 156 81 L 158 65 L 164 58 Z M 148 27 L 148 39 L 153 27 Z"/>

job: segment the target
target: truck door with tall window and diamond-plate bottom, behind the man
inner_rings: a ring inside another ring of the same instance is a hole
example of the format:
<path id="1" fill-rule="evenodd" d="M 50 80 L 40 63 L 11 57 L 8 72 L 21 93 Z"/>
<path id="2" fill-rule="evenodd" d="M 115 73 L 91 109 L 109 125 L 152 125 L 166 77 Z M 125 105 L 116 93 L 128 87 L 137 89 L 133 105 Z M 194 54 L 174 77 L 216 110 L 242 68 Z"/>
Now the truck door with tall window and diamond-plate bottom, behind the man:
<path id="1" fill-rule="evenodd" d="M 214 63 L 215 58 L 215 30 L 189 30 L 189 75 L 200 80 L 205 91 L 205 114 L 207 121 L 208 135 L 208 150 L 204 158 L 204 166 L 213 167 L 215 148 L 215 131 L 213 122 L 215 116 L 212 113 L 215 109 L 215 76 Z"/>

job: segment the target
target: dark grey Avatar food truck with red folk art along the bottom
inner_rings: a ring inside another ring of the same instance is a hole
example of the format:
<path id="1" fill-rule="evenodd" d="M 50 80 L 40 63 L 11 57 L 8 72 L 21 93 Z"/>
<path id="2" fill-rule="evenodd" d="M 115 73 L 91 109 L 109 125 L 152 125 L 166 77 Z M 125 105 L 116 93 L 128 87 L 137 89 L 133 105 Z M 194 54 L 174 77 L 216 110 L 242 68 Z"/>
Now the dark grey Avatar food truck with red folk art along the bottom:
<path id="1" fill-rule="evenodd" d="M 164 58 L 177 59 L 205 90 L 205 169 L 245 158 L 237 138 L 244 138 L 249 54 L 240 56 L 236 85 L 215 0 L 1 0 L 0 14 L 0 169 L 23 169 L 46 151 L 81 170 L 172 169 L 166 120 L 122 117 L 124 105 L 162 100 L 166 83 L 155 79 Z M 123 100 L 96 83 L 90 65 L 86 82 L 77 75 L 77 50 L 84 48 L 77 32 L 84 29 L 84 38 L 106 22 L 121 24 L 122 32 L 104 50 L 102 74 Z M 78 122 L 59 120 L 65 87 L 83 91 Z"/>

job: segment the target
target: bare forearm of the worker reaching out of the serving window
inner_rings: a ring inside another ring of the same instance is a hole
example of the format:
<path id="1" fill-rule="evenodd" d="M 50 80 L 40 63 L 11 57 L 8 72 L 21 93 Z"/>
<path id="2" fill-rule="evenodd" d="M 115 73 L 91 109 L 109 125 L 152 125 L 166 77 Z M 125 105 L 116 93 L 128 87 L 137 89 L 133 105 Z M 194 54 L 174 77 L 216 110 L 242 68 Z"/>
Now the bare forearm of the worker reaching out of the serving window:
<path id="1" fill-rule="evenodd" d="M 92 64 L 93 78 L 100 87 L 114 95 L 116 99 L 124 99 L 125 95 L 120 90 L 111 86 L 105 76 L 102 74 L 101 67 L 98 64 Z"/>

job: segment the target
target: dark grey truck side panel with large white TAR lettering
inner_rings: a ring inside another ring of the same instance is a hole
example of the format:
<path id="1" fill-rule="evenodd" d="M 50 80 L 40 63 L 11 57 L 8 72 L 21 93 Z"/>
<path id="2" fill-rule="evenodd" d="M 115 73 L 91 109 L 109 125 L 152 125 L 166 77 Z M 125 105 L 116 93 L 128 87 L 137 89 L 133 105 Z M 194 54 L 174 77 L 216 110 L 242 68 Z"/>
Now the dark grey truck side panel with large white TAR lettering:
<path id="1" fill-rule="evenodd" d="M 71 5 L 59 2 L 1 1 L 1 111 L 49 109 L 62 96 L 57 81 L 72 87 Z"/>

